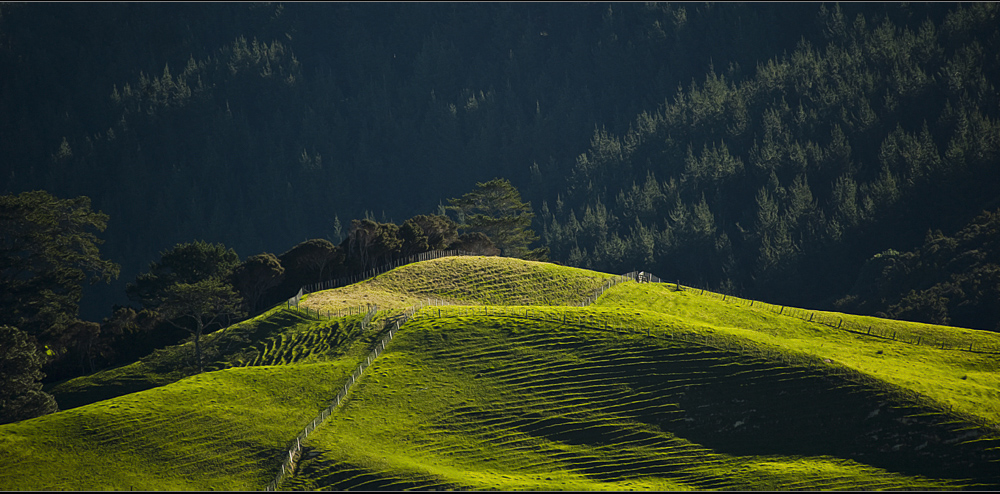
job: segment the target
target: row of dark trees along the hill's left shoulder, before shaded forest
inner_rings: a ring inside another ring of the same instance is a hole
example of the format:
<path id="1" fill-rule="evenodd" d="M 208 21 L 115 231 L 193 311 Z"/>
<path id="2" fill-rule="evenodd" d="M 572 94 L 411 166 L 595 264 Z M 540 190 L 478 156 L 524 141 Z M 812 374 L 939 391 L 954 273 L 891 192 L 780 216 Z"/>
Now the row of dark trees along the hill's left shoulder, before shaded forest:
<path id="1" fill-rule="evenodd" d="M 134 361 L 190 335 L 193 368 L 204 368 L 205 333 L 253 316 L 310 283 L 351 276 L 414 254 L 462 250 L 544 259 L 529 249 L 531 205 L 505 179 L 477 184 L 442 213 L 402 225 L 351 221 L 339 245 L 317 238 L 280 255 L 240 260 L 222 243 L 194 241 L 160 253 L 126 286 L 134 306 L 116 306 L 101 323 L 79 316 L 88 281 L 108 282 L 119 266 L 103 259 L 96 233 L 108 216 L 87 197 L 45 191 L 0 196 L 0 423 L 56 410 L 41 379 L 55 381 Z M 44 370 L 44 373 L 42 372 Z"/>

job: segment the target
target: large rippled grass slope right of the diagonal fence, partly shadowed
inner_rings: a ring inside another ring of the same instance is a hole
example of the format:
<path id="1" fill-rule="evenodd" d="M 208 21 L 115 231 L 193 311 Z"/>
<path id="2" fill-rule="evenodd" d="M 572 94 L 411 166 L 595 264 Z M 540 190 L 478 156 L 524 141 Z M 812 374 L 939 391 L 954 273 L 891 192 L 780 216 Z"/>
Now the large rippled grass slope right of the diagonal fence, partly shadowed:
<path id="1" fill-rule="evenodd" d="M 618 309 L 490 309 L 423 309 L 310 437 L 283 487 L 1000 485 L 996 441 L 963 443 L 969 424 L 823 367 L 680 338 L 706 328 L 603 330 Z"/>

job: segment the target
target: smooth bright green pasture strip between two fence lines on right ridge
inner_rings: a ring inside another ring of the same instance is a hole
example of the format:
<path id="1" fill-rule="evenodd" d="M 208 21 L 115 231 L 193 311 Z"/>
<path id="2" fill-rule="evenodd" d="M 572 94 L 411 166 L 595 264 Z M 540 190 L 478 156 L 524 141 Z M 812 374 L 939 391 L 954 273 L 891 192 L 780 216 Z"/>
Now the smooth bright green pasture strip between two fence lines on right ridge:
<path id="1" fill-rule="evenodd" d="M 771 348 L 829 359 L 1000 426 L 1000 355 L 997 354 L 941 350 L 838 330 L 761 307 L 724 302 L 701 295 L 699 290 L 675 291 L 669 284 L 624 283 L 606 293 L 595 306 L 659 312 L 676 326 L 705 327 Z M 989 331 L 849 314 L 837 316 L 866 324 L 890 324 L 900 331 L 932 340 L 955 338 L 954 334 L 959 333 L 979 346 L 1000 347 L 1000 334 Z"/>

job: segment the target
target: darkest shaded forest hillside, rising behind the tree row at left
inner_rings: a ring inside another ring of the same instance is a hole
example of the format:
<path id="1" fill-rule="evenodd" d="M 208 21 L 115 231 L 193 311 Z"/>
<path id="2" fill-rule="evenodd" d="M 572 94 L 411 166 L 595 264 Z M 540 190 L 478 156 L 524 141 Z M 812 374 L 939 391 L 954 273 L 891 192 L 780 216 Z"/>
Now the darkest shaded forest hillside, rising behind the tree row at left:
<path id="1" fill-rule="evenodd" d="M 247 257 L 289 238 L 338 241 L 335 218 L 401 221 L 498 175 L 538 207 L 595 126 L 624 132 L 709 60 L 750 68 L 794 47 L 816 33 L 774 26 L 815 11 L 5 5 L 0 129 L 17 138 L 0 143 L 2 188 L 88 195 L 110 215 L 104 250 L 122 280 L 88 292 L 105 302 L 88 297 L 85 314 L 100 314 L 179 242 Z M 302 204 L 325 212 L 298 214 Z"/>

